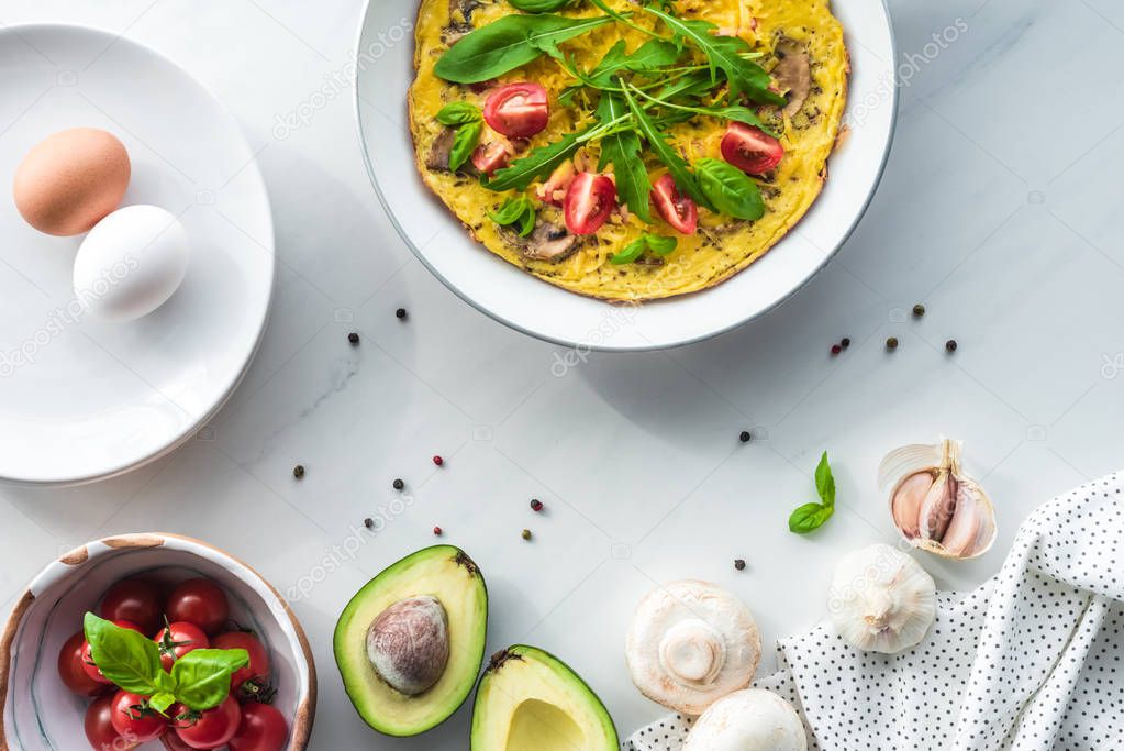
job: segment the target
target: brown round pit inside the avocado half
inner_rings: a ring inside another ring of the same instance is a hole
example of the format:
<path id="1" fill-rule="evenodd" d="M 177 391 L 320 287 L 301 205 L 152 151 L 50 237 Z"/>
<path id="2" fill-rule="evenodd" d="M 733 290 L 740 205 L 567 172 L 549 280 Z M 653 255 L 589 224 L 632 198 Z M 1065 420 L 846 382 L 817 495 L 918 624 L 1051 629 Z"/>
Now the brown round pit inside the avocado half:
<path id="1" fill-rule="evenodd" d="M 366 632 L 371 667 L 395 690 L 424 694 L 448 666 L 448 614 L 436 597 L 409 597 L 380 613 Z"/>

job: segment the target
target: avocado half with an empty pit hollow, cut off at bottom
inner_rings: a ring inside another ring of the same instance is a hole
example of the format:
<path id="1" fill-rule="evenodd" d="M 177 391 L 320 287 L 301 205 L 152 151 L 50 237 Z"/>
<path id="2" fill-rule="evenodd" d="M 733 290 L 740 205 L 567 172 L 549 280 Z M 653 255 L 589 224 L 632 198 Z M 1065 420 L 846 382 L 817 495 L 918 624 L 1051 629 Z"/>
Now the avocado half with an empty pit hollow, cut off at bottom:
<path id="1" fill-rule="evenodd" d="M 597 694 L 553 654 L 517 644 L 495 654 L 472 708 L 472 751 L 617 751 Z"/>

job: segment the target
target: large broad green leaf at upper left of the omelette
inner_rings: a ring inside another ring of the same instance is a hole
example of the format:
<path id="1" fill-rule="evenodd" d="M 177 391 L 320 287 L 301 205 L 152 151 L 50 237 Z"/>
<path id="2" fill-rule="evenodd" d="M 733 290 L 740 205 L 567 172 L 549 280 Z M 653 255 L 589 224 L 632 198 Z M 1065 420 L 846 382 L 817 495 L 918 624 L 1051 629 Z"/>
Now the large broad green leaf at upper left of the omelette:
<path id="1" fill-rule="evenodd" d="M 605 26 L 608 16 L 504 16 L 471 31 L 442 55 L 434 73 L 453 83 L 481 83 L 534 62 L 545 52 L 560 57 L 558 45 Z"/>

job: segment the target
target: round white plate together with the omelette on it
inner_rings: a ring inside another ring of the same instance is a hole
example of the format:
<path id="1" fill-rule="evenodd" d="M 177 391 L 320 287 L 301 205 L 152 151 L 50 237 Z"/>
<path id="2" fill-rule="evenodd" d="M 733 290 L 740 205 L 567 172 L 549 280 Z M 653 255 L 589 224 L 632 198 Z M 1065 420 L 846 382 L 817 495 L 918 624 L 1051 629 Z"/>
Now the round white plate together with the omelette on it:
<path id="1" fill-rule="evenodd" d="M 894 60 L 863 0 L 379 0 L 360 136 L 464 300 L 560 344 L 670 347 L 768 311 L 847 238 Z"/>

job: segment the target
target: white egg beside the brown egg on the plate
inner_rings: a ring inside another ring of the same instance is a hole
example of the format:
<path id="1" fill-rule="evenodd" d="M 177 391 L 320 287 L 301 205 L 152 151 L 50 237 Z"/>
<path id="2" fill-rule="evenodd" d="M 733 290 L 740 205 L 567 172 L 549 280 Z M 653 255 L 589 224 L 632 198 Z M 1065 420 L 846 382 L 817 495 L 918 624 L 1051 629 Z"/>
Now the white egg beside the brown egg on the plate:
<path id="1" fill-rule="evenodd" d="M 156 206 L 128 206 L 99 221 L 74 259 L 74 295 L 107 320 L 134 320 L 164 305 L 188 271 L 188 233 Z"/>

